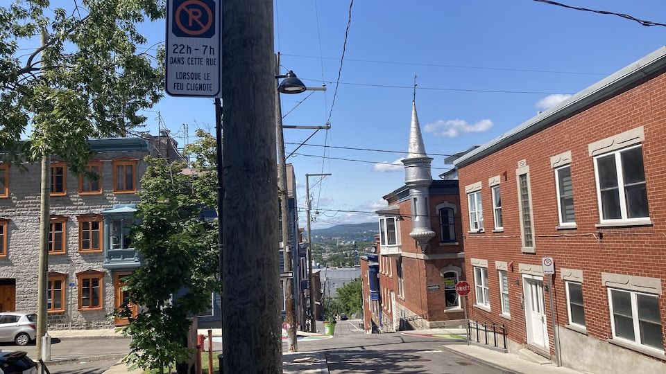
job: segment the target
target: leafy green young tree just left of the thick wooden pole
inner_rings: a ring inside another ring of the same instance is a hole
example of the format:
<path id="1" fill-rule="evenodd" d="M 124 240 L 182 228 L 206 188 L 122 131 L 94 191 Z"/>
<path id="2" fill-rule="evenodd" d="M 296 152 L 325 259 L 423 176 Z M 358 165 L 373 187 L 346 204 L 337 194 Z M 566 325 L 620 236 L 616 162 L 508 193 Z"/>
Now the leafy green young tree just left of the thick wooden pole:
<path id="1" fill-rule="evenodd" d="M 185 163 L 146 159 L 139 224 L 131 233 L 143 265 L 126 279 L 130 302 L 140 305 L 139 314 L 132 318 L 127 307 L 120 312 L 130 321 L 123 333 L 132 337 L 125 361 L 133 366 L 159 369 L 186 362 L 191 354 L 184 344 L 189 318 L 210 307 L 211 292 L 221 292 L 217 221 L 201 215 L 203 207 L 216 202 L 216 181 L 202 189 L 212 183 L 208 178 L 214 173 L 197 170 L 210 162 L 209 141 L 210 135 L 202 133 L 190 148 L 196 152 L 194 171 L 183 172 Z M 183 290 L 187 294 L 172 297 Z"/>

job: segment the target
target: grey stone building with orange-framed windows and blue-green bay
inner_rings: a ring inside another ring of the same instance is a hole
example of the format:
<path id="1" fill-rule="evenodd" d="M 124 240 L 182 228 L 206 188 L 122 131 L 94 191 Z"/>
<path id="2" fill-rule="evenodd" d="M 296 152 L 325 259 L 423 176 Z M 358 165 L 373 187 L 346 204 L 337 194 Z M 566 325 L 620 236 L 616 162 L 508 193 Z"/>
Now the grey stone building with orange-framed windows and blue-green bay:
<path id="1" fill-rule="evenodd" d="M 92 139 L 92 180 L 51 162 L 49 328 L 106 328 L 123 303 L 123 276 L 140 265 L 128 237 L 144 157 L 182 158 L 167 134 Z M 0 311 L 37 310 L 40 165 L 0 163 Z M 23 170 L 22 170 L 23 169 Z"/>

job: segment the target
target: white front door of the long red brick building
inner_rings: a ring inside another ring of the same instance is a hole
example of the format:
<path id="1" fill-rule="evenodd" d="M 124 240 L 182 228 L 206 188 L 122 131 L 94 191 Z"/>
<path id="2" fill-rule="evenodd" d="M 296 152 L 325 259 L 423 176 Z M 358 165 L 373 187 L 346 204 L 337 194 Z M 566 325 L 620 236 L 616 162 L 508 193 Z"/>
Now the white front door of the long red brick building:
<path id="1" fill-rule="evenodd" d="M 527 344 L 548 350 L 548 330 L 543 302 L 543 278 L 523 276 Z"/>

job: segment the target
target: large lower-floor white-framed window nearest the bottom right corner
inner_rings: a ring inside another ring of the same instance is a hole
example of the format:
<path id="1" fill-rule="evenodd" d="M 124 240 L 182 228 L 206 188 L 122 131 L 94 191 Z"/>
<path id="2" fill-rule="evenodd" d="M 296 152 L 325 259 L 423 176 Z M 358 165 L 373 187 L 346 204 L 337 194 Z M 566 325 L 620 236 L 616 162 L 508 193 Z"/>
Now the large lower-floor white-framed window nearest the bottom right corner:
<path id="1" fill-rule="evenodd" d="M 613 338 L 664 349 L 657 295 L 608 288 Z"/>

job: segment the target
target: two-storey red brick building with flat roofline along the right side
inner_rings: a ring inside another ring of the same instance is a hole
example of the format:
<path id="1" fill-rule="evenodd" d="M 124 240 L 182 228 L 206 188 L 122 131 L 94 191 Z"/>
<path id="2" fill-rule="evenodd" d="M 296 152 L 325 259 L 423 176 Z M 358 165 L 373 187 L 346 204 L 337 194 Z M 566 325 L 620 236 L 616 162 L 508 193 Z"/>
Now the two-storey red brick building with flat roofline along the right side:
<path id="1" fill-rule="evenodd" d="M 470 319 L 592 373 L 666 373 L 666 48 L 454 162 Z M 554 287 L 542 258 L 552 257 Z"/>

